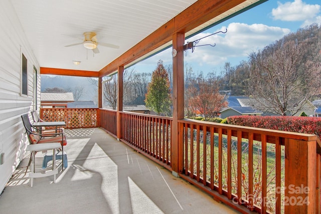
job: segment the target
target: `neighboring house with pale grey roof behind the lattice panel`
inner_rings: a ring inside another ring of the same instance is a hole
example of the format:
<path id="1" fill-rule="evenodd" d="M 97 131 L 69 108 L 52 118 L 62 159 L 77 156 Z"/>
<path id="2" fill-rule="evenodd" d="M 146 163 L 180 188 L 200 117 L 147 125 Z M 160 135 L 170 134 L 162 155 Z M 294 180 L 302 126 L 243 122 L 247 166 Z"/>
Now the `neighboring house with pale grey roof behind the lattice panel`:
<path id="1" fill-rule="evenodd" d="M 72 92 L 42 92 L 40 105 L 42 108 L 67 108 L 68 103 L 74 101 Z"/>

